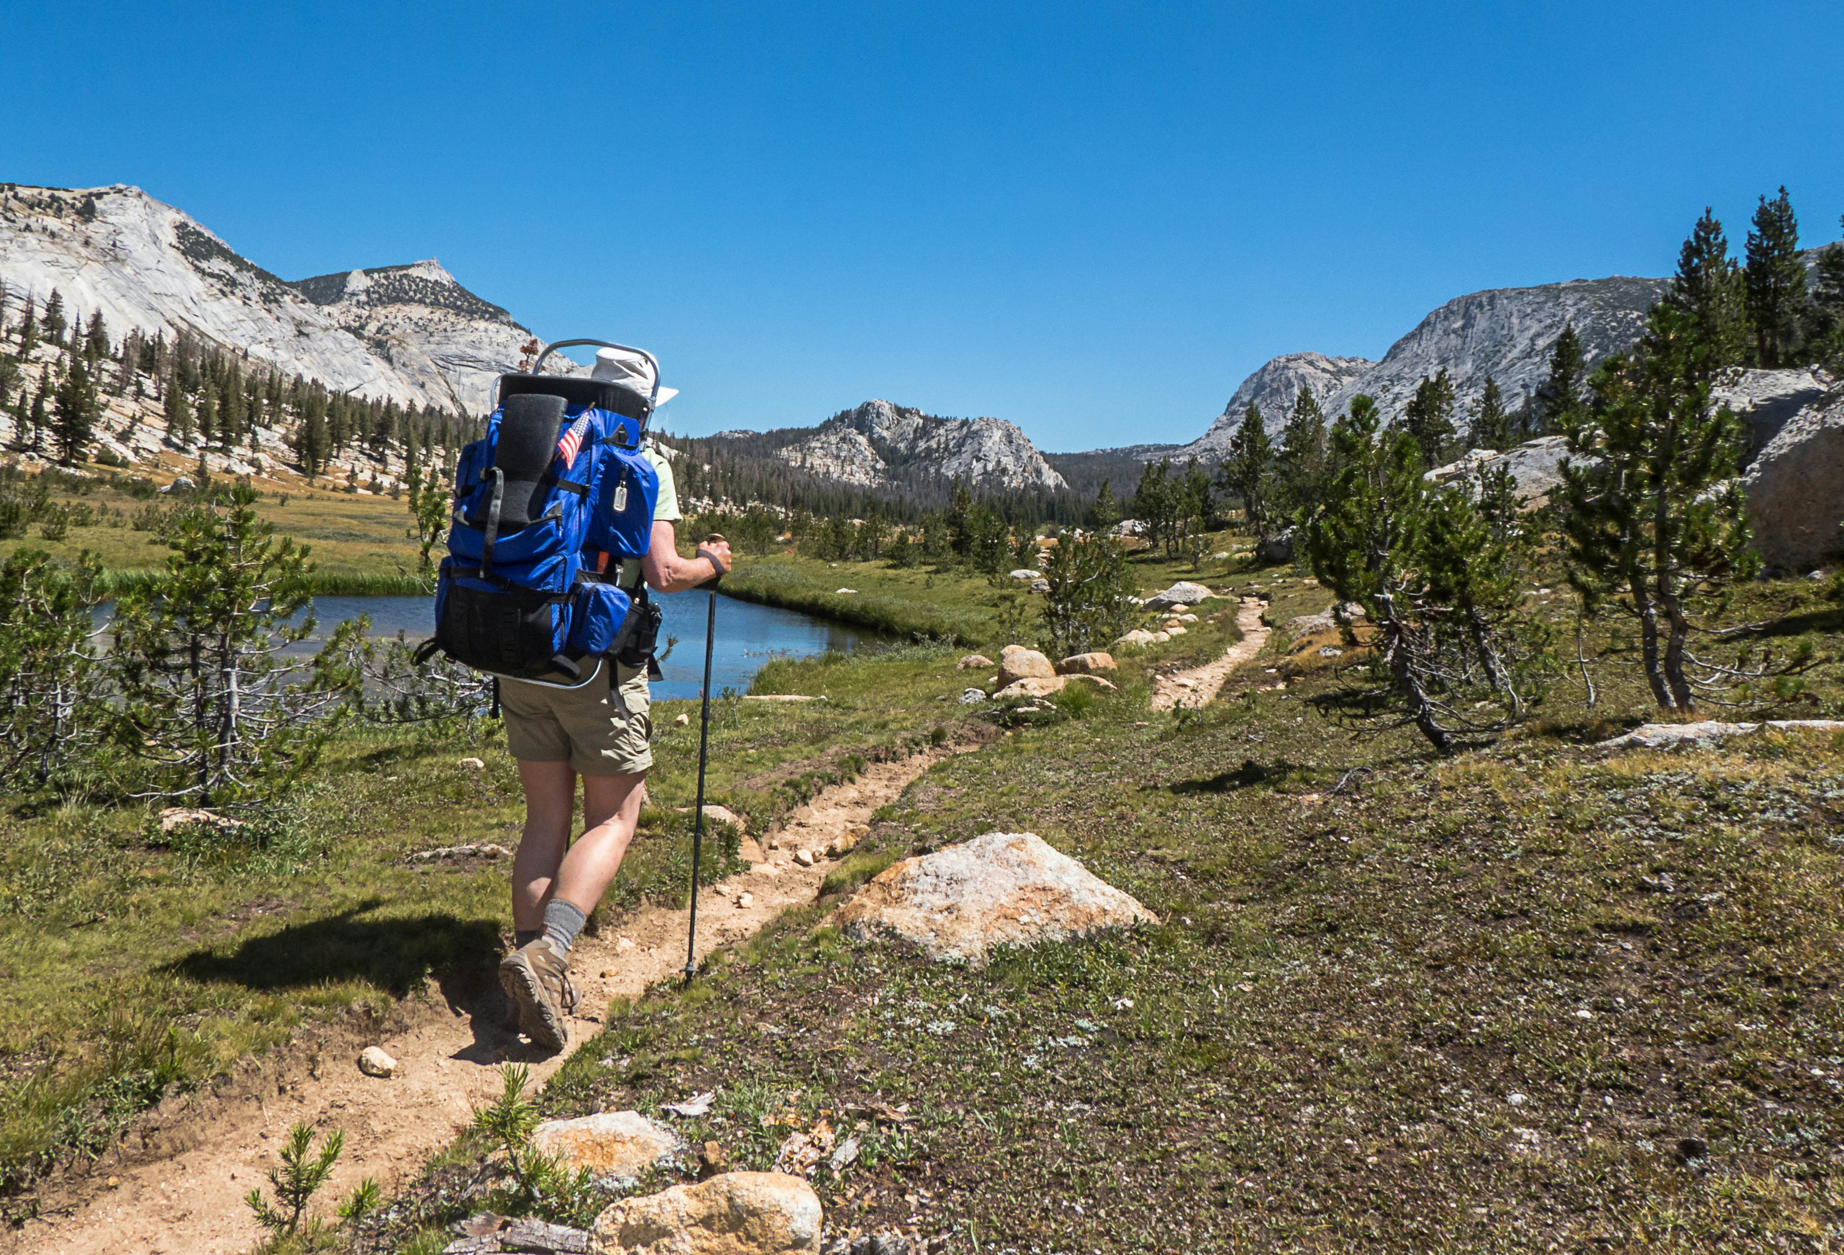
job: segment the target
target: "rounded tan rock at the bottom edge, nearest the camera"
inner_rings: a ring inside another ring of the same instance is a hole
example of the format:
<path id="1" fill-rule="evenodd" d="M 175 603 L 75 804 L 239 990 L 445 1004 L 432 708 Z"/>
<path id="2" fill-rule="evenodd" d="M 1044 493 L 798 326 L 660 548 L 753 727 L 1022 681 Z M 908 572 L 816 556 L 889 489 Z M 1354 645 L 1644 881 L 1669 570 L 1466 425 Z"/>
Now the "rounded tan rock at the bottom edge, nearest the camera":
<path id="1" fill-rule="evenodd" d="M 596 1216 L 590 1255 L 784 1255 L 819 1251 L 813 1187 L 782 1172 L 725 1172 L 623 1198 Z"/>

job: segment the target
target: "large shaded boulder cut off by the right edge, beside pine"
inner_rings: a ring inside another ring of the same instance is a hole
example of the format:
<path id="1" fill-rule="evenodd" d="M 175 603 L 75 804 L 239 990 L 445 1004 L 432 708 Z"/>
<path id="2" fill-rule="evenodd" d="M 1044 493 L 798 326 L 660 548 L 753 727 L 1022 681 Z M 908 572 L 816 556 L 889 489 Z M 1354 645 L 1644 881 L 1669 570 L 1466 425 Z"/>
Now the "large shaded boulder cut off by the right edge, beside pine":
<path id="1" fill-rule="evenodd" d="M 1741 477 L 1768 566 L 1805 571 L 1844 549 L 1844 389 L 1792 415 Z"/>

